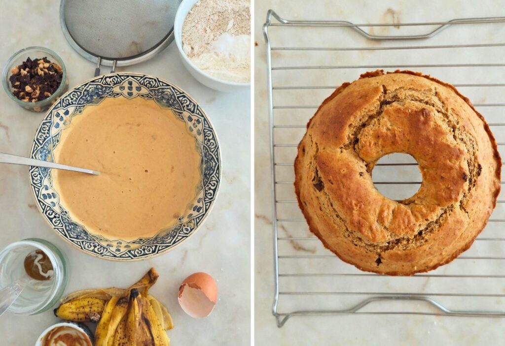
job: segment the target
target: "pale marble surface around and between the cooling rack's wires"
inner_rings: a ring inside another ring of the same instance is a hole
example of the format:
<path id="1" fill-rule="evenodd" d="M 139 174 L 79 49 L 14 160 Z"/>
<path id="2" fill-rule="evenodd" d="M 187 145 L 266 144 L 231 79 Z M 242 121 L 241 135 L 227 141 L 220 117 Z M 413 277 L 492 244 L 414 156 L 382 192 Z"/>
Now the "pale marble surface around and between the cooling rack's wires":
<path id="1" fill-rule="evenodd" d="M 317 5 L 316 5 L 317 3 Z M 307 2 L 306 0 L 257 0 L 255 7 L 255 343 L 257 345 L 292 345 L 292 344 L 345 344 L 345 345 L 368 345 L 368 344 L 435 344 L 435 345 L 475 345 L 475 344 L 499 344 L 502 342 L 502 330 L 505 326 L 505 318 L 475 318 L 475 317 L 443 317 L 422 315 L 342 315 L 342 316 L 295 316 L 289 319 L 282 328 L 277 328 L 275 318 L 272 316 L 272 303 L 274 295 L 273 280 L 273 251 L 272 251 L 272 209 L 271 209 L 271 185 L 270 185 L 270 149 L 269 149 L 269 123 L 268 123 L 268 99 L 266 83 L 266 51 L 262 33 L 262 25 L 268 9 L 273 9 L 280 16 L 293 20 L 349 20 L 354 23 L 377 23 L 377 22 L 433 22 L 445 21 L 455 18 L 468 17 L 491 17 L 503 15 L 502 7 L 491 1 L 479 2 L 475 5 L 466 2 L 400 2 L 400 1 L 319 1 Z M 432 29 L 432 28 L 429 28 Z M 372 29 L 371 29 L 372 30 Z M 375 34 L 396 34 L 399 29 L 373 28 Z M 403 29 L 402 29 L 403 30 Z M 458 30 L 443 32 L 434 40 L 425 40 L 415 44 L 447 44 L 448 42 L 464 44 L 484 43 L 489 41 L 501 42 L 503 37 L 503 25 L 494 25 L 485 29 L 483 35 L 475 32 L 465 32 L 458 35 Z M 350 31 L 350 30 L 349 30 Z M 295 28 L 271 28 L 272 37 L 276 37 L 274 46 L 312 46 L 312 47 L 351 47 L 363 46 L 363 40 L 359 40 L 353 32 L 335 29 L 306 28 L 299 31 Z M 428 28 L 423 30 L 428 31 Z M 277 36 L 273 33 L 276 32 Z M 303 32 L 305 34 L 300 34 Z M 313 33 L 313 35 L 310 35 Z M 360 45 L 361 43 L 361 45 Z M 381 45 L 381 43 L 368 44 Z M 385 43 L 382 43 L 384 45 Z M 406 45 L 412 42 L 389 42 L 389 45 Z M 501 54 L 500 54 L 501 52 Z M 303 51 L 276 51 L 273 54 L 274 66 L 288 65 L 358 65 L 358 64 L 417 64 L 417 63 L 482 63 L 502 62 L 501 50 L 492 50 L 491 53 L 483 54 L 477 50 L 449 50 L 445 54 L 445 61 L 437 55 L 436 50 L 408 51 L 376 51 L 365 52 L 303 52 Z M 387 55 L 385 55 L 387 54 Z M 375 60 L 374 60 L 375 59 Z M 418 69 L 419 70 L 419 69 Z M 492 73 L 485 70 L 465 70 L 465 73 L 455 73 L 450 69 L 434 69 L 425 73 L 431 73 L 451 83 L 499 83 L 505 80 L 501 70 L 494 68 Z M 461 70 L 460 70 L 461 71 Z M 340 85 L 342 82 L 354 80 L 365 71 L 356 70 L 324 70 L 320 71 L 276 71 L 274 72 L 274 85 Z M 293 77 L 296 75 L 297 78 Z M 461 91 L 470 97 L 474 103 L 502 103 L 505 92 L 503 88 L 462 88 Z M 280 91 L 274 93 L 274 104 L 279 105 L 318 105 L 331 93 L 331 90 L 306 90 Z M 483 107 L 488 121 L 503 121 L 502 108 Z M 277 124 L 305 124 L 314 109 L 308 110 L 276 110 Z M 303 130 L 290 134 L 278 129 L 276 139 L 286 141 L 284 143 L 297 143 Z M 500 134 L 501 133 L 501 134 Z M 496 133 L 499 138 L 503 131 Z M 501 142 L 501 139 L 498 139 Z M 292 162 L 294 149 L 277 149 L 279 162 Z M 412 166 L 411 166 L 412 167 Z M 415 167 L 415 166 L 414 166 Z M 293 179 L 292 167 L 278 167 L 278 180 L 289 181 Z M 413 171 L 398 171 L 395 176 L 387 172 L 374 171 L 374 178 L 389 177 L 408 181 Z M 419 172 L 417 172 L 419 175 Z M 416 178 L 412 178 L 416 179 Z M 419 177 L 417 178 L 419 179 Z M 417 180 L 416 179 L 416 180 Z M 292 199 L 294 194 L 291 185 L 278 187 L 278 191 Z M 391 193 L 397 192 L 390 190 Z M 411 193 L 414 193 L 411 191 Z M 394 198 L 394 197 L 393 197 Z M 284 217 L 300 217 L 296 204 L 292 204 L 287 211 L 282 205 L 280 213 Z M 500 205 L 495 211 L 494 217 L 503 215 L 503 206 Z M 305 223 L 296 227 L 291 223 L 284 223 L 279 236 L 309 237 Z M 492 234 L 492 235 L 491 235 Z M 502 227 L 499 223 L 489 225 L 483 232 L 484 237 L 499 237 Z M 505 250 L 501 242 L 476 242 L 465 255 L 490 255 L 503 256 Z M 304 254 L 330 254 L 319 241 L 279 241 L 280 254 L 304 255 Z M 296 262 L 295 262 L 296 261 Z M 465 262 L 466 261 L 466 262 Z M 289 263 L 289 264 L 288 264 Z M 293 264 L 297 263 L 297 264 Z M 465 266 L 465 263 L 467 264 Z M 456 260 L 453 263 L 437 269 L 436 273 L 495 273 L 503 274 L 501 262 Z M 475 271 L 472 271 L 475 270 Z M 282 260 L 280 272 L 348 272 L 358 273 L 354 267 L 344 264 L 338 259 L 325 261 L 314 260 Z M 435 272 L 432 272 L 435 273 Z M 419 280 L 419 281 L 415 281 Z M 445 280 L 445 281 L 443 281 Z M 421 284 L 420 284 L 421 283 Z M 377 286 L 375 286 L 377 285 Z M 479 286 L 480 285 L 480 286 Z M 282 291 L 365 291 L 365 292 L 407 292 L 408 290 L 419 292 L 493 292 L 502 294 L 505 292 L 503 279 L 439 279 L 439 278 L 412 278 L 388 279 L 383 281 L 369 278 L 306 278 L 297 281 L 292 278 L 281 278 Z M 345 296 L 344 299 L 329 296 L 281 296 L 279 311 L 289 312 L 296 309 L 342 309 L 352 306 L 360 297 Z M 361 297 L 363 299 L 363 297 Z M 474 299 L 457 300 L 447 297 L 438 297 L 444 300 L 453 309 L 476 309 L 480 302 Z M 496 298 L 487 301 L 489 309 L 504 310 L 502 299 Z M 418 303 L 383 304 L 381 306 L 369 306 L 366 310 L 403 310 L 431 311 L 436 310 Z"/>

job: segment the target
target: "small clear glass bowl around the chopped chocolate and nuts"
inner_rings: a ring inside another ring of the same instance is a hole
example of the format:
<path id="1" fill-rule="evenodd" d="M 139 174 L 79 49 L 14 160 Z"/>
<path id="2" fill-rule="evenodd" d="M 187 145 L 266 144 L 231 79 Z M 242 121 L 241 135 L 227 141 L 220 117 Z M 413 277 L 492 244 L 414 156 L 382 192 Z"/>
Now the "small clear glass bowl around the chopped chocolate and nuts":
<path id="1" fill-rule="evenodd" d="M 31 59 L 41 59 L 44 56 L 47 56 L 47 59 L 61 66 L 63 70 L 63 76 L 60 86 L 53 93 L 53 95 L 42 101 L 24 102 L 19 100 L 16 96 L 14 96 L 14 88 L 11 86 L 11 82 L 9 81 L 9 78 L 12 75 L 12 68 L 23 63 L 27 57 L 30 57 Z M 68 90 L 67 70 L 61 57 L 51 49 L 43 47 L 28 47 L 17 51 L 9 58 L 9 60 L 7 60 L 7 63 L 4 66 L 4 71 L 2 72 L 2 84 L 4 85 L 4 89 L 9 97 L 18 105 L 32 112 L 44 112 L 49 109 L 49 107 L 51 107 L 60 98 L 60 96 L 62 96 Z"/>

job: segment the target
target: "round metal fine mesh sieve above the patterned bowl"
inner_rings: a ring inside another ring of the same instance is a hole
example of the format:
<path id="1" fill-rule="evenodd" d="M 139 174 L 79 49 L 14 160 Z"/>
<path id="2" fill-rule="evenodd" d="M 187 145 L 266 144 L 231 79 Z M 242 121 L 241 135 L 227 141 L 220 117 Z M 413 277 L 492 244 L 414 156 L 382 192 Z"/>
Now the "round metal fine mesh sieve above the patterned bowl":
<path id="1" fill-rule="evenodd" d="M 181 0 L 62 0 L 60 20 L 70 45 L 100 64 L 131 65 L 163 50 L 173 40 Z"/>

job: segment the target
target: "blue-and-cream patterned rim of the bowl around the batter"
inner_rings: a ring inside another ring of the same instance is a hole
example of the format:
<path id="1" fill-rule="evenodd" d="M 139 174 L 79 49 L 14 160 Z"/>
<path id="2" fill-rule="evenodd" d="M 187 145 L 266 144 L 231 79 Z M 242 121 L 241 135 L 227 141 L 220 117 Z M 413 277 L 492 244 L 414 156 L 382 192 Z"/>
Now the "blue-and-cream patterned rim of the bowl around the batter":
<path id="1" fill-rule="evenodd" d="M 60 204 L 53 188 L 51 169 L 30 166 L 30 182 L 36 204 L 51 227 L 78 249 L 111 260 L 140 260 L 159 255 L 189 238 L 204 222 L 212 209 L 221 180 L 221 153 L 218 138 L 210 120 L 198 104 L 183 90 L 157 77 L 133 73 L 117 73 L 95 77 L 63 95 L 48 111 L 35 134 L 31 157 L 53 161 L 53 151 L 62 131 L 74 115 L 89 104 L 106 97 L 142 97 L 171 109 L 186 122 L 201 146 L 203 193 L 192 203 L 191 213 L 168 232 L 133 241 L 109 240 L 89 233 L 71 219 Z"/>

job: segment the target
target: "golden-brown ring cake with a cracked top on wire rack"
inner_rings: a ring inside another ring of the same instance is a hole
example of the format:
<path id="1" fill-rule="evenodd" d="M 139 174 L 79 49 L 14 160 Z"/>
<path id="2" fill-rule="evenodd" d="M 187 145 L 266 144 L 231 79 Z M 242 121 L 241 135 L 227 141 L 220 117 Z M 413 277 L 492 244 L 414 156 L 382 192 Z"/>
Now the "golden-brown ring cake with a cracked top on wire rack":
<path id="1" fill-rule="evenodd" d="M 412 155 L 423 176 L 399 202 L 371 176 L 391 153 Z M 298 205 L 325 247 L 361 270 L 412 275 L 472 245 L 496 205 L 501 159 L 484 118 L 456 88 L 379 70 L 324 100 L 294 171 Z"/>

